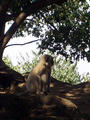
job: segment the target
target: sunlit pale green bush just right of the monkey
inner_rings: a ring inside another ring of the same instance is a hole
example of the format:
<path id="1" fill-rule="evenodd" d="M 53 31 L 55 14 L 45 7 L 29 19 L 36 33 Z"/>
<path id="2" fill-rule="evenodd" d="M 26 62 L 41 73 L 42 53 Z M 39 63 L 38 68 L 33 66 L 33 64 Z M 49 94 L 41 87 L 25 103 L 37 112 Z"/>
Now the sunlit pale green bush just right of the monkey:
<path id="1" fill-rule="evenodd" d="M 67 61 L 62 57 L 54 57 L 54 68 L 52 76 L 60 81 L 77 84 L 80 83 L 80 75 L 77 72 L 77 63 L 71 64 L 70 59 Z"/>

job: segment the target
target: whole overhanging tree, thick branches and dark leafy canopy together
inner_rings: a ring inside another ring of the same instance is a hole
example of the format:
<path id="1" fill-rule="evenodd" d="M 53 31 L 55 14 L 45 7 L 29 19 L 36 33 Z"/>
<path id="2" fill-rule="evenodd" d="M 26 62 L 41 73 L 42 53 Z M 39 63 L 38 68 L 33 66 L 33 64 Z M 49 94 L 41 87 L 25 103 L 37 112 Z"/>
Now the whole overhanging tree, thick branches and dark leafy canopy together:
<path id="1" fill-rule="evenodd" d="M 41 51 L 49 49 L 66 58 L 86 57 L 90 61 L 90 10 L 86 0 L 1 0 L 0 6 L 0 59 L 10 38 L 27 32 L 41 38 Z M 5 24 L 11 21 L 5 33 Z"/>

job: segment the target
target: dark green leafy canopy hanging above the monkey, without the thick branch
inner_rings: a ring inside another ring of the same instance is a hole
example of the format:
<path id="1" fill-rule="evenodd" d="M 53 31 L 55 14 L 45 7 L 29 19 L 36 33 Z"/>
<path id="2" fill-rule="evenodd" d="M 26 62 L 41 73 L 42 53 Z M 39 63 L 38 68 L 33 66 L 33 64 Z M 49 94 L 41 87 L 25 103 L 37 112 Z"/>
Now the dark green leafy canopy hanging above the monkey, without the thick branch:
<path id="1" fill-rule="evenodd" d="M 31 0 L 13 0 L 8 12 L 23 11 Z M 33 1 L 35 2 L 35 1 Z M 90 61 L 90 9 L 85 0 L 68 0 L 62 6 L 50 5 L 29 16 L 14 36 L 32 34 L 42 39 L 41 51 L 49 49 L 71 59 Z"/>

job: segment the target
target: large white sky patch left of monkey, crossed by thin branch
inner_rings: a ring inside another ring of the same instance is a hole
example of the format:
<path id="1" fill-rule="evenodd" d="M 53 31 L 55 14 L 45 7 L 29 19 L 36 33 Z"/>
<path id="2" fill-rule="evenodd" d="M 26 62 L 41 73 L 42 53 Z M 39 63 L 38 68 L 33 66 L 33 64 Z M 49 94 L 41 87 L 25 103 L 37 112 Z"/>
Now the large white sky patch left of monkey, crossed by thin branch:
<path id="1" fill-rule="evenodd" d="M 36 40 L 36 38 L 32 36 L 13 38 L 10 40 L 8 45 L 9 44 L 23 44 L 26 42 L 30 42 L 32 40 Z M 12 64 L 17 65 L 18 62 L 23 62 L 22 57 L 24 57 L 25 61 L 27 61 L 28 56 L 30 56 L 30 61 L 31 61 L 34 57 L 32 51 L 38 53 L 36 43 L 27 44 L 24 46 L 6 47 L 3 56 L 8 56 Z M 28 54 L 28 56 L 26 53 Z"/>

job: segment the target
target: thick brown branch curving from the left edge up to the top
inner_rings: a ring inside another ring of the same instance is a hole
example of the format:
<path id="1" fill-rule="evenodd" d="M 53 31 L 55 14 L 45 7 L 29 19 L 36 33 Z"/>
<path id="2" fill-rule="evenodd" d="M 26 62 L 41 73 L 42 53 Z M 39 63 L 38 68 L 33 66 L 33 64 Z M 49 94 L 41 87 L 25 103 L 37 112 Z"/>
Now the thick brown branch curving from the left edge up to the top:
<path id="1" fill-rule="evenodd" d="M 9 42 L 10 38 L 13 36 L 15 31 L 18 29 L 20 24 L 26 19 L 27 16 L 36 13 L 43 7 L 47 7 L 50 4 L 57 3 L 57 4 L 62 4 L 67 0 L 40 0 L 39 2 L 35 2 L 33 4 L 30 4 L 28 8 L 21 12 L 19 16 L 16 18 L 15 22 L 13 25 L 10 27 L 10 29 L 7 31 L 7 33 L 0 39 L 0 41 L 3 40 L 3 48 L 5 48 L 6 44 Z"/>

